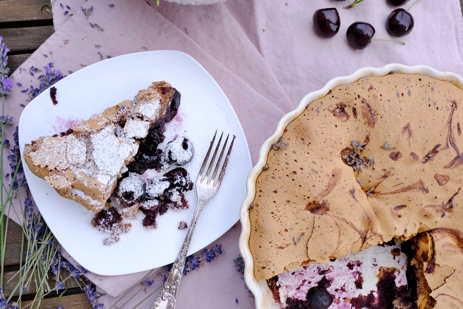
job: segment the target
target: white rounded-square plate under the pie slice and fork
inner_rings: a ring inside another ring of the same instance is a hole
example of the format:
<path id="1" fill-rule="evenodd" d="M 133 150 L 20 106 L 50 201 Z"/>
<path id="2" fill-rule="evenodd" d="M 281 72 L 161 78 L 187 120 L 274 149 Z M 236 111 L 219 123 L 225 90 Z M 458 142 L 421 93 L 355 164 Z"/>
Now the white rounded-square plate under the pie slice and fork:
<path id="1" fill-rule="evenodd" d="M 227 172 L 218 193 L 203 208 L 188 254 L 218 239 L 238 221 L 239 207 L 246 195 L 246 177 L 252 168 L 243 129 L 232 105 L 212 76 L 192 57 L 173 50 L 145 51 L 114 57 L 83 68 L 57 82 L 57 105 L 50 89 L 25 107 L 19 119 L 19 144 L 44 135 L 66 131 L 81 120 L 124 100 L 151 82 L 165 80 L 181 93 L 177 116 L 166 124 L 166 136 L 187 136 L 194 145 L 192 162 L 183 166 L 194 181 L 215 130 L 236 136 Z M 230 143 L 230 141 L 229 141 Z M 24 162 L 24 158 L 23 158 Z M 196 188 L 185 193 L 190 208 L 158 216 L 157 229 L 142 226 L 144 214 L 131 222 L 131 230 L 119 242 L 103 245 L 108 234 L 92 227 L 94 213 L 66 199 L 24 165 L 32 196 L 50 230 L 67 252 L 83 267 L 100 275 L 122 275 L 145 271 L 175 260 L 187 230 L 180 221 L 191 221 Z"/>

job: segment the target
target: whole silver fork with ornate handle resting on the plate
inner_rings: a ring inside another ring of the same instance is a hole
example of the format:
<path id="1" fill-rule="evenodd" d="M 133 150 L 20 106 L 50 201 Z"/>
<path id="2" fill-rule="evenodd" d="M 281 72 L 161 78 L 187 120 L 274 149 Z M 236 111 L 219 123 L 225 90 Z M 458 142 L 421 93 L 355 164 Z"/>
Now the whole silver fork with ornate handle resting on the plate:
<path id="1" fill-rule="evenodd" d="M 178 253 L 177 258 L 175 259 L 175 262 L 172 265 L 172 268 L 170 269 L 169 275 L 167 276 L 166 281 L 164 282 L 163 290 L 161 290 L 161 293 L 159 293 L 159 296 L 157 296 L 156 302 L 151 306 L 151 309 L 175 309 L 175 295 L 177 294 L 181 276 L 183 275 L 183 267 L 185 265 L 185 259 L 187 259 L 188 247 L 190 246 L 191 238 L 194 233 L 194 228 L 196 227 L 196 223 L 198 222 L 198 218 L 200 217 L 200 213 L 204 203 L 217 192 L 217 190 L 220 187 L 220 183 L 222 183 L 222 178 L 225 175 L 225 168 L 228 164 L 228 158 L 230 158 L 233 142 L 235 141 L 235 136 L 233 135 L 233 139 L 225 156 L 224 164 L 222 165 L 222 170 L 220 171 L 219 178 L 217 179 L 217 182 L 215 182 L 215 177 L 217 176 L 217 172 L 219 171 L 220 162 L 222 161 L 225 146 L 227 145 L 230 134 L 228 134 L 227 138 L 225 139 L 225 144 L 222 148 L 222 151 L 220 151 L 219 159 L 217 160 L 217 164 L 215 165 L 212 177 L 209 180 L 215 157 L 217 156 L 217 151 L 219 150 L 220 142 L 222 141 L 224 133 L 222 132 L 222 134 L 220 135 L 219 142 L 215 147 L 215 151 L 211 158 L 211 162 L 209 163 L 209 167 L 207 168 L 206 174 L 203 175 L 204 170 L 206 169 L 206 164 L 209 159 L 209 155 L 211 154 L 211 150 L 214 145 L 216 135 L 217 131 L 215 131 L 214 138 L 212 139 L 211 145 L 209 146 L 209 150 L 206 153 L 206 158 L 204 158 L 204 162 L 201 165 L 198 179 L 196 180 L 198 204 L 196 205 L 196 210 L 194 211 L 193 219 L 191 219 L 187 236 L 185 237 L 180 252 Z"/>

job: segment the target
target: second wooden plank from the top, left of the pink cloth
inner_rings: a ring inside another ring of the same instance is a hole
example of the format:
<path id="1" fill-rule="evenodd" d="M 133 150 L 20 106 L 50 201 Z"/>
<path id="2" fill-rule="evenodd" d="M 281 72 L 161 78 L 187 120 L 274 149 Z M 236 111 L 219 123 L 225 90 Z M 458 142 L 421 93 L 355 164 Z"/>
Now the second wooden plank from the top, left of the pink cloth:
<path id="1" fill-rule="evenodd" d="M 53 26 L 0 29 L 0 35 L 3 36 L 2 42 L 7 44 L 13 53 L 25 53 L 38 49 L 53 32 L 55 32 Z"/>

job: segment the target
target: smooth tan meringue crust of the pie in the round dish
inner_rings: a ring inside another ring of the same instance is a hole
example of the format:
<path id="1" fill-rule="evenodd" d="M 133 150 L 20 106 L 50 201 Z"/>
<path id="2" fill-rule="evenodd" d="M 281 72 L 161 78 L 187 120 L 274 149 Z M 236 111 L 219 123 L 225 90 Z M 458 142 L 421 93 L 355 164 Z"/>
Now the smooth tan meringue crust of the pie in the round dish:
<path id="1" fill-rule="evenodd" d="M 462 306 L 462 100 L 450 82 L 389 74 L 310 103 L 257 178 L 249 240 L 256 279 L 427 232 L 435 261 L 417 262 L 425 267 L 417 280 L 435 304 L 418 308 Z M 355 170 L 347 154 L 371 164 Z"/>

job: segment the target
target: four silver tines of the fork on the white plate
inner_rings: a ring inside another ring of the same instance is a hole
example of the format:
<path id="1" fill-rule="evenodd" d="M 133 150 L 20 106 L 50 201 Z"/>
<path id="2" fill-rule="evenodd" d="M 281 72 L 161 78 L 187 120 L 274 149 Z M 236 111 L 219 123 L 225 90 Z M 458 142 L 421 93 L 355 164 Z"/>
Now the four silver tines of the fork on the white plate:
<path id="1" fill-rule="evenodd" d="M 211 150 L 212 150 L 213 145 L 214 145 L 215 137 L 217 136 L 217 131 L 215 131 L 214 137 L 213 137 L 213 139 L 211 141 L 211 145 L 209 146 L 209 149 L 207 150 L 206 158 L 204 158 L 204 162 L 201 165 L 201 169 L 200 169 L 200 172 L 199 172 L 199 175 L 198 175 L 197 182 L 202 183 L 204 180 L 206 180 L 206 185 L 209 185 L 209 183 L 212 182 L 213 187 L 218 188 L 220 186 L 220 183 L 222 182 L 222 178 L 225 175 L 225 168 L 227 167 L 227 164 L 228 164 L 228 158 L 230 158 L 230 153 L 232 152 L 233 142 L 235 141 L 235 135 L 233 135 L 232 142 L 230 143 L 230 147 L 228 148 L 228 152 L 227 152 L 227 154 L 225 156 L 224 163 L 222 165 L 222 170 L 220 170 L 219 178 L 217 179 L 217 183 L 214 183 L 215 182 L 215 177 L 217 176 L 217 172 L 219 171 L 219 168 L 220 168 L 220 163 L 222 162 L 222 157 L 223 157 L 224 152 L 225 152 L 225 147 L 226 147 L 226 145 L 228 143 L 228 138 L 230 137 L 230 134 L 228 134 L 226 139 L 225 139 L 225 143 L 224 143 L 224 145 L 222 147 L 222 150 L 220 151 L 219 158 L 217 159 L 217 163 L 215 165 L 215 169 L 214 169 L 214 172 L 212 174 L 212 177 L 209 179 L 209 176 L 211 174 L 211 170 L 213 168 L 213 164 L 215 162 L 215 158 L 217 156 L 217 151 L 219 151 L 219 147 L 220 147 L 220 144 L 222 142 L 223 135 L 224 135 L 224 132 L 222 132 L 222 134 L 220 134 L 219 142 L 217 143 L 217 146 L 215 147 L 215 151 L 214 151 L 214 153 L 212 155 L 211 161 L 209 163 L 209 167 L 206 170 L 206 174 L 203 175 L 204 170 L 206 169 L 207 161 L 209 160 L 209 155 L 211 154 Z"/>

